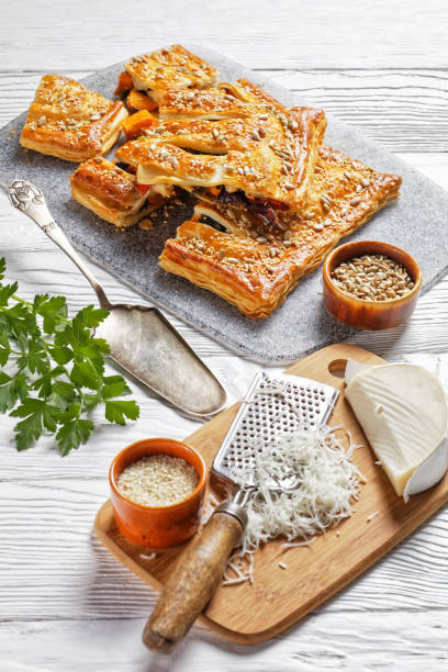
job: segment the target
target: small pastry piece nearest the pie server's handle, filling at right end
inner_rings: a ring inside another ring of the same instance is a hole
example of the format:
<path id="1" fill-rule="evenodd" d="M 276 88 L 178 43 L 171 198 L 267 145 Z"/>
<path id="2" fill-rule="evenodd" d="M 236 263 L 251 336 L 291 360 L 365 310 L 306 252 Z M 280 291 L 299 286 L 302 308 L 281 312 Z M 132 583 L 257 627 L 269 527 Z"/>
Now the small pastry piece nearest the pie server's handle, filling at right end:
<path id="1" fill-rule="evenodd" d="M 132 226 L 165 202 L 150 188 L 143 194 L 135 175 L 102 157 L 81 164 L 70 176 L 70 183 L 78 203 L 119 228 Z"/>

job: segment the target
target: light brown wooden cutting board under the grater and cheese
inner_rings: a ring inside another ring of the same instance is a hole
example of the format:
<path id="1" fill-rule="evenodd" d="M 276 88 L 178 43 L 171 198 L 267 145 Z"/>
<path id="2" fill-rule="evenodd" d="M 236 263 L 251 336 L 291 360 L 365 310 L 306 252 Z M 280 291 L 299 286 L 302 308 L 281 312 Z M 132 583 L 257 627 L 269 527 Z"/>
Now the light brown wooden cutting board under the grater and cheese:
<path id="1" fill-rule="evenodd" d="M 251 585 L 246 582 L 221 586 L 201 620 L 225 637 L 251 643 L 281 632 L 359 576 L 448 501 L 447 477 L 432 490 L 411 497 L 408 504 L 396 496 L 381 467 L 374 463 L 376 458 L 345 400 L 340 374 L 347 358 L 367 363 L 383 361 L 356 346 L 333 345 L 285 372 L 312 378 L 341 391 L 329 424 L 343 425 L 351 432 L 354 441 L 363 446 L 354 453 L 354 461 L 367 478 L 355 504 L 356 513 L 309 547 L 285 550 L 281 548 L 281 540 L 269 542 L 255 556 Z M 186 439 L 209 466 L 237 407 L 238 404 L 224 411 Z M 212 480 L 212 489 L 213 485 L 216 484 Z M 378 515 L 368 522 L 374 512 Z M 123 564 L 160 590 L 181 549 L 159 551 L 154 559 L 148 559 L 148 549 L 132 545 L 117 531 L 110 502 L 99 511 L 94 529 L 100 541 Z M 336 535 L 336 529 L 340 535 Z M 281 569 L 279 562 L 284 562 L 287 569 Z"/>

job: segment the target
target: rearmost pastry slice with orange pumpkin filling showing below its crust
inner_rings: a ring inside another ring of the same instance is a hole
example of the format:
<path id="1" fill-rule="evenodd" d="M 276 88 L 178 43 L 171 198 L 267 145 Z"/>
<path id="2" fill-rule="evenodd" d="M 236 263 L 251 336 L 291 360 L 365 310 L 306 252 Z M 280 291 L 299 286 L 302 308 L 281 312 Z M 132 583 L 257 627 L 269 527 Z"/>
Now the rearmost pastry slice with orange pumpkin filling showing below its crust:
<path id="1" fill-rule="evenodd" d="M 206 60 L 180 44 L 134 56 L 124 64 L 116 96 L 127 97 L 127 105 L 136 110 L 155 110 L 169 87 L 202 89 L 217 80 L 217 70 Z"/>

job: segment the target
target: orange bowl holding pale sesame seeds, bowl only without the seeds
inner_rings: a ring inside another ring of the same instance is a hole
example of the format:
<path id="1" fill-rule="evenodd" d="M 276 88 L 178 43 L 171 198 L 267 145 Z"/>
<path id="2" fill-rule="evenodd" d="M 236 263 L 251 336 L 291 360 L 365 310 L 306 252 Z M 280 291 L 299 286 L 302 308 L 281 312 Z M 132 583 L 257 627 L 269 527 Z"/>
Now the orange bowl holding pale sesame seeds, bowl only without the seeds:
<path id="1" fill-rule="evenodd" d="M 168 506 L 144 506 L 132 502 L 116 488 L 120 473 L 127 464 L 147 455 L 171 455 L 183 458 L 198 472 L 195 490 L 184 500 Z M 111 501 L 116 526 L 126 539 L 149 548 L 167 548 L 182 544 L 194 535 L 206 485 L 206 468 L 194 448 L 166 438 L 143 439 L 124 448 L 112 461 L 109 471 Z"/>

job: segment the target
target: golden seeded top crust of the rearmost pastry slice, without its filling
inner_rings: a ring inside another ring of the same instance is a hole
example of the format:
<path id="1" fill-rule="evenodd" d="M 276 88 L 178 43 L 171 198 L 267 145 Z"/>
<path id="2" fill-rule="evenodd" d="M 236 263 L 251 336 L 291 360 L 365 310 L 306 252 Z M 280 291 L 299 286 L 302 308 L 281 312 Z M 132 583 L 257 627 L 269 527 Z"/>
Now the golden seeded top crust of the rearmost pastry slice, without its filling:
<path id="1" fill-rule="evenodd" d="M 219 75 L 216 68 L 180 44 L 134 56 L 124 67 L 135 89 L 145 91 L 157 102 L 168 87 L 211 87 Z"/>

